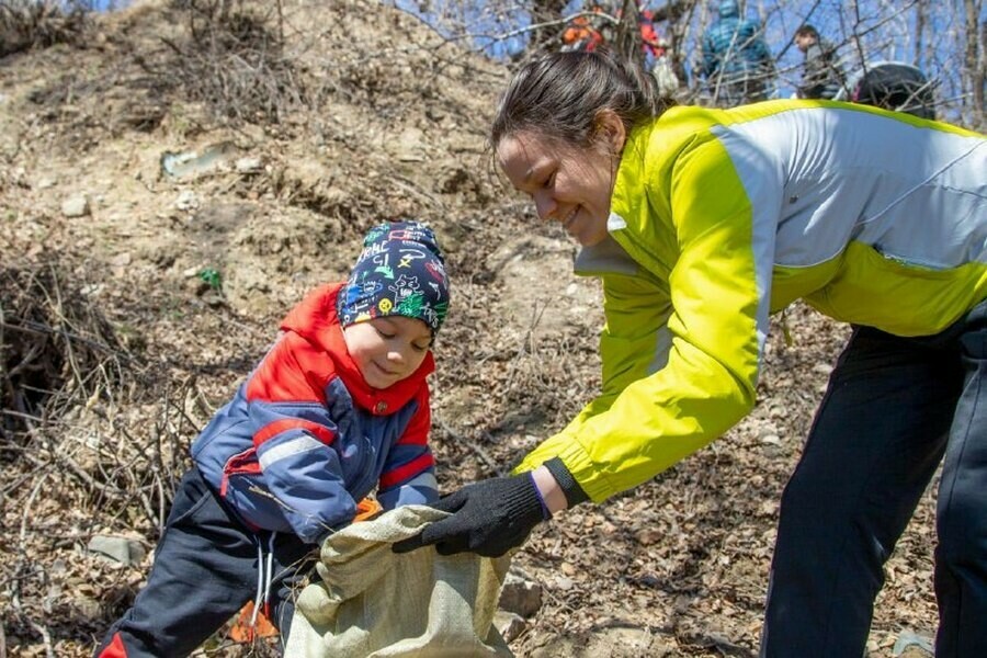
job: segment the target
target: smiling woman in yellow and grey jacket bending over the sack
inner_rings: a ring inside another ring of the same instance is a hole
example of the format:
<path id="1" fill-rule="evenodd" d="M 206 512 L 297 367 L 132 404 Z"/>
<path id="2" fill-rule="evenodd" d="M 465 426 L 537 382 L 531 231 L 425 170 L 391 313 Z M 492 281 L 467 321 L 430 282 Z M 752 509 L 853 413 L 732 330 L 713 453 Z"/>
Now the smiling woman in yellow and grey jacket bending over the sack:
<path id="1" fill-rule="evenodd" d="M 937 657 L 987 647 L 987 148 L 825 101 L 672 107 L 609 54 L 521 69 L 491 143 L 602 277 L 603 389 L 518 475 L 442 499 L 407 551 L 497 555 L 748 413 L 769 316 L 853 324 L 781 503 L 764 656 L 861 656 L 882 566 L 943 455 Z"/>

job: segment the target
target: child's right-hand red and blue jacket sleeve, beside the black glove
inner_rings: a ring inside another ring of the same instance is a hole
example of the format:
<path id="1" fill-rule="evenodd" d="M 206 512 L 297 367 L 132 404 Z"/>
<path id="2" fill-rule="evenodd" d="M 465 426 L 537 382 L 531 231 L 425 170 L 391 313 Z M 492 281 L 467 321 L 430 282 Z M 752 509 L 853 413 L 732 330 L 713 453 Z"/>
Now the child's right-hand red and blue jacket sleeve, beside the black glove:
<path id="1" fill-rule="evenodd" d="M 428 444 L 432 415 L 427 385 L 422 385 L 415 404 L 415 415 L 387 454 L 381 474 L 377 499 L 385 510 L 439 500 L 435 460 Z"/>

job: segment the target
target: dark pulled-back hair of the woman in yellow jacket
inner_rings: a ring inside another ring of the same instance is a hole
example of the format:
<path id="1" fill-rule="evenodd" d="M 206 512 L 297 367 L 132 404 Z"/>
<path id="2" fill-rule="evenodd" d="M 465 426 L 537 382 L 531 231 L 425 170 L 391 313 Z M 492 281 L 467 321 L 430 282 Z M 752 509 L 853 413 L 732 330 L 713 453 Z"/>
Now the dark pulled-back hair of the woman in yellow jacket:
<path id="1" fill-rule="evenodd" d="M 670 103 L 639 66 L 615 52 L 553 53 L 521 68 L 500 99 L 490 145 L 523 132 L 588 146 L 601 111 L 611 110 L 629 133 Z"/>

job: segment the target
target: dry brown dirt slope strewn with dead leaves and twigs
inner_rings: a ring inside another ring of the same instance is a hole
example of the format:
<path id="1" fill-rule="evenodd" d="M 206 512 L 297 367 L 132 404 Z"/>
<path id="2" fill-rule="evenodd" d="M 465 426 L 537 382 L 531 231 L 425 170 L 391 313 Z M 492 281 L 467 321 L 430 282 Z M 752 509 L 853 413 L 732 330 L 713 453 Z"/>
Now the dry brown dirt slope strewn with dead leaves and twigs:
<path id="1" fill-rule="evenodd" d="M 373 224 L 428 220 L 449 257 L 444 490 L 507 472 L 599 386 L 598 283 L 485 148 L 508 68 L 368 0 L 284 4 L 280 26 L 254 13 L 286 43 L 260 57 L 273 32 L 241 21 L 205 50 L 191 10 L 149 1 L 0 61 L 4 384 L 29 361 L 12 308 L 52 339 L 27 406 L 4 397 L 0 656 L 92 651 L 147 574 L 189 442 Z M 739 426 L 535 530 L 513 564 L 543 601 L 518 656 L 757 655 L 778 501 L 848 333 L 801 305 L 783 321 Z M 934 629 L 933 510 L 934 488 L 888 561 L 872 657 Z M 132 538 L 133 564 L 90 552 L 95 535 Z"/>

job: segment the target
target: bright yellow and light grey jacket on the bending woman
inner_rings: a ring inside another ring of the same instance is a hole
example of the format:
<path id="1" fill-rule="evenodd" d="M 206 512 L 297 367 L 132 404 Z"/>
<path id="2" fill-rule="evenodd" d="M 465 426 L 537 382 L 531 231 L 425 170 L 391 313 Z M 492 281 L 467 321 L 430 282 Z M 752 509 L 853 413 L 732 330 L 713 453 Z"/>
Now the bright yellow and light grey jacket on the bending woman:
<path id="1" fill-rule="evenodd" d="M 519 470 L 559 457 L 594 501 L 755 405 L 769 316 L 802 298 L 899 336 L 987 297 L 987 141 L 827 101 L 674 107 L 633 131 L 577 273 L 603 281 L 603 388 Z"/>

